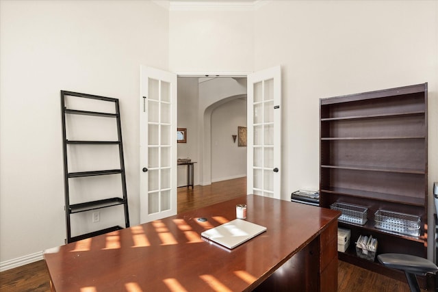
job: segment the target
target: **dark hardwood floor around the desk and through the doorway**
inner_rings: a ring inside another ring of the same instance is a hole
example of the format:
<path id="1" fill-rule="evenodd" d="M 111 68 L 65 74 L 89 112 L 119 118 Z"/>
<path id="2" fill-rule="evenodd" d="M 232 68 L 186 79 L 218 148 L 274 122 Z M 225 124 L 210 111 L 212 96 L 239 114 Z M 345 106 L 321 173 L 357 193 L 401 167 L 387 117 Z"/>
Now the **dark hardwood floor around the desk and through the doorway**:
<path id="1" fill-rule="evenodd" d="M 230 200 L 244 194 L 246 194 L 246 178 L 212 183 L 205 187 L 196 185 L 193 189 L 180 187 L 178 189 L 178 213 Z M 44 261 L 1 272 L 0 291 L 50 291 L 49 274 Z M 337 291 L 408 292 L 409 287 L 407 283 L 339 261 Z"/>

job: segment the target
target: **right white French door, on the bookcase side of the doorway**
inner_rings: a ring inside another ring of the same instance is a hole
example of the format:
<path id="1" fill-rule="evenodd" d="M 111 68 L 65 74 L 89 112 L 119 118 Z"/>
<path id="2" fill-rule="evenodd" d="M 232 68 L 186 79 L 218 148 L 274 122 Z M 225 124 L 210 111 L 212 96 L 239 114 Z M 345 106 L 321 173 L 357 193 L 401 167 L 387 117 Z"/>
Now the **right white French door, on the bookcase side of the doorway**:
<path id="1" fill-rule="evenodd" d="M 247 194 L 281 198 L 281 67 L 248 75 Z"/>

